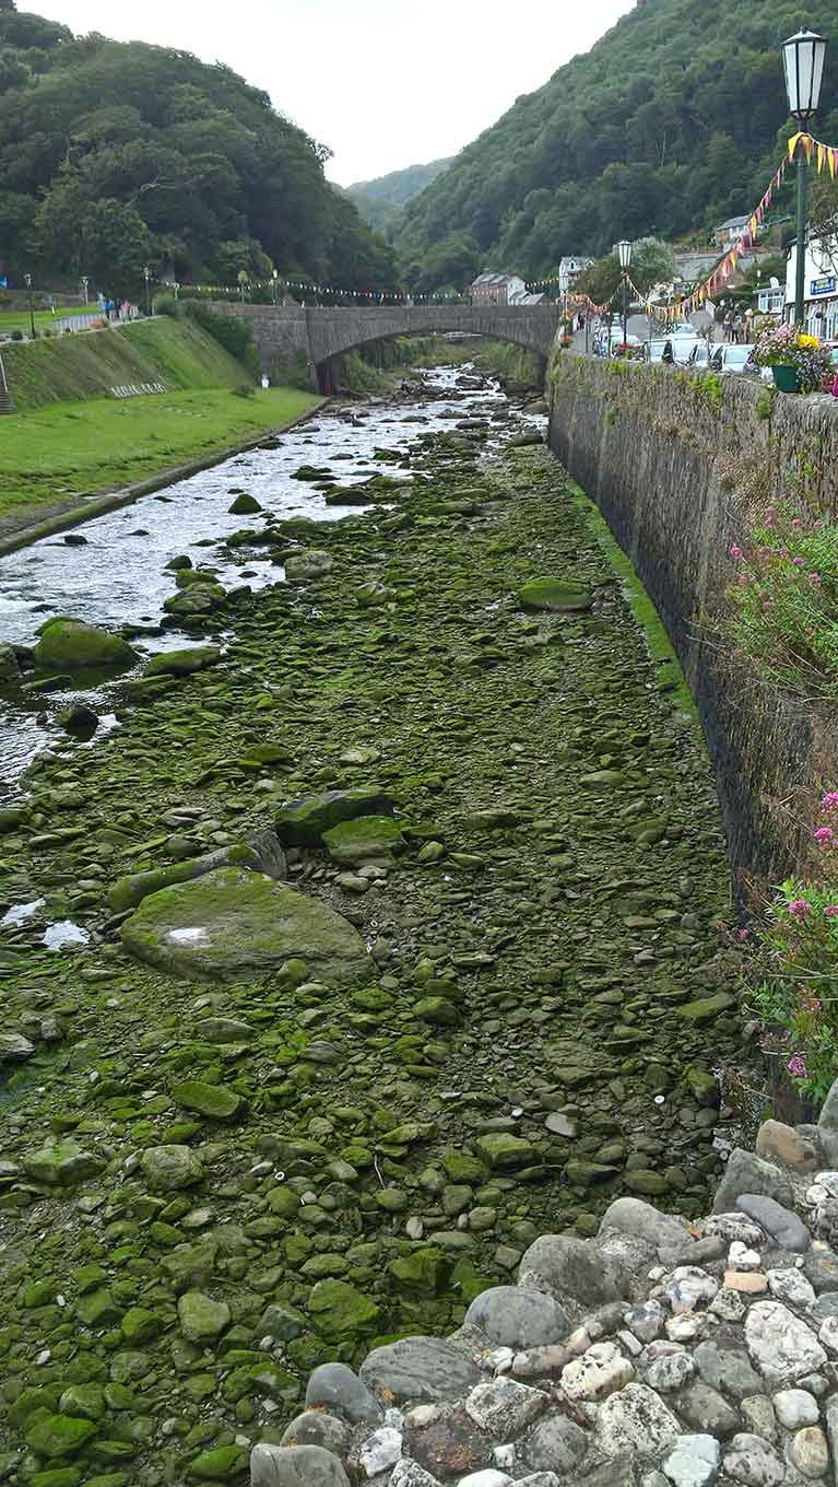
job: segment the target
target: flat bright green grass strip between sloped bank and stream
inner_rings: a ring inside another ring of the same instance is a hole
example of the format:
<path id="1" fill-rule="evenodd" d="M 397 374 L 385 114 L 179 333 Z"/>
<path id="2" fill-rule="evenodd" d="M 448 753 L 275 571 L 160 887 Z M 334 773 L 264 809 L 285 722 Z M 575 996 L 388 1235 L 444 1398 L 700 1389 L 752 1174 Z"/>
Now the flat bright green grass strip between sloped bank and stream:
<path id="1" fill-rule="evenodd" d="M 131 485 L 260 433 L 279 428 L 319 399 L 294 388 L 201 388 L 135 397 L 52 403 L 0 418 L 0 515 Z"/>

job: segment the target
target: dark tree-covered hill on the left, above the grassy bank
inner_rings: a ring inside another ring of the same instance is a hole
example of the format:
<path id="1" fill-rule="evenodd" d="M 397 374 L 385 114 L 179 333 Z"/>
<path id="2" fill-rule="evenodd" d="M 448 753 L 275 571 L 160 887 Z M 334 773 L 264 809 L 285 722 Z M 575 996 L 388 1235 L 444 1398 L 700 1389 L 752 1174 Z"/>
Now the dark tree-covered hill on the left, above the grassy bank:
<path id="1" fill-rule="evenodd" d="M 187 52 L 74 39 L 0 0 L 0 257 L 128 290 L 294 277 L 392 284 L 392 253 L 267 94 Z"/>

